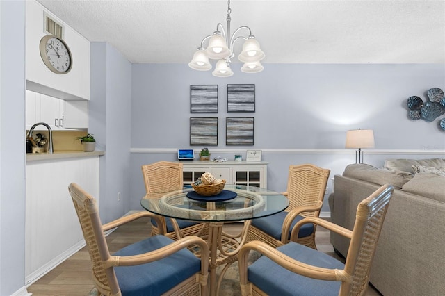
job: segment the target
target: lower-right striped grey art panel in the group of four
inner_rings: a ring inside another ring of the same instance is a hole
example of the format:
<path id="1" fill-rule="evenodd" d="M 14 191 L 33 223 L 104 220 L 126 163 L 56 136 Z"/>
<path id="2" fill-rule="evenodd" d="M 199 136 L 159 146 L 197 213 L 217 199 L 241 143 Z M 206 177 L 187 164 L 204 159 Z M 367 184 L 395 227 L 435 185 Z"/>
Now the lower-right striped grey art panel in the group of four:
<path id="1" fill-rule="evenodd" d="M 226 145 L 253 145 L 254 117 L 226 118 Z"/>

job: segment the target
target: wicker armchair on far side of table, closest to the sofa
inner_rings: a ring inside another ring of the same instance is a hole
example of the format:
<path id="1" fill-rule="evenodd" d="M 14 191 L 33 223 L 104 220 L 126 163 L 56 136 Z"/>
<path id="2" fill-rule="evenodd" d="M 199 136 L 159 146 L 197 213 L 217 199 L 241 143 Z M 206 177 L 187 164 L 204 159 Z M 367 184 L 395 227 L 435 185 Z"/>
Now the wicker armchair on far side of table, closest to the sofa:
<path id="1" fill-rule="evenodd" d="M 273 247 L 288 243 L 291 229 L 298 221 L 320 215 L 329 175 L 330 170 L 316 165 L 289 166 L 287 191 L 283 193 L 289 198 L 289 207 L 275 215 L 252 220 L 248 241 L 261 240 Z M 316 249 L 315 230 L 315 224 L 304 225 L 297 242 Z"/>

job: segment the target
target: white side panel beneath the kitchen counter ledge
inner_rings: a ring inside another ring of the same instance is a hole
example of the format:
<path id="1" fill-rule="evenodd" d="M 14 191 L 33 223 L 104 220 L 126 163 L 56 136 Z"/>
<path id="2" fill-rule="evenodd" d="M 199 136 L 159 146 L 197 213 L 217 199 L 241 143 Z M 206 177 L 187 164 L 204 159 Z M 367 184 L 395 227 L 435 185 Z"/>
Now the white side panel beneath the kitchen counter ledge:
<path id="1" fill-rule="evenodd" d="M 99 199 L 99 156 L 26 163 L 26 284 L 85 244 L 68 193 L 72 182 Z"/>

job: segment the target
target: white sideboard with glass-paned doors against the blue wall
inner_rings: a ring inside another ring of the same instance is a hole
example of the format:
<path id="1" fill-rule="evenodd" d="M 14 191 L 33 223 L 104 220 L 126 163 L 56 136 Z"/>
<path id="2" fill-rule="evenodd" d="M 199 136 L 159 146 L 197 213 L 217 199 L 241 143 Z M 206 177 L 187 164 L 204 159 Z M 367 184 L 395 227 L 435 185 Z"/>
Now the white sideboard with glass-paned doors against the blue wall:
<path id="1" fill-rule="evenodd" d="M 216 178 L 225 179 L 227 184 L 267 188 L 267 165 L 268 163 L 263 161 L 184 162 L 184 185 L 190 185 L 204 172 L 211 172 Z"/>

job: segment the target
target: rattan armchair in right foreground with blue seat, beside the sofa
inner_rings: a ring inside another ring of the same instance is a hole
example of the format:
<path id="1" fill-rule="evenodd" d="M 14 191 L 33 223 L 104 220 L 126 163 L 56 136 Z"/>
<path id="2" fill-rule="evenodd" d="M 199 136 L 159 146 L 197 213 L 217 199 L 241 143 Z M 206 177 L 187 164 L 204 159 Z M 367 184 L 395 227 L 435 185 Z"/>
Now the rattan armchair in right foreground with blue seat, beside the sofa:
<path id="1" fill-rule="evenodd" d="M 321 218 L 298 222 L 291 242 L 276 249 L 265 242 L 249 242 L 238 257 L 242 295 L 365 295 L 369 272 L 393 188 L 380 187 L 357 206 L 352 231 Z M 295 242 L 299 228 L 317 223 L 350 238 L 346 263 Z M 250 250 L 263 254 L 248 266 Z"/>

